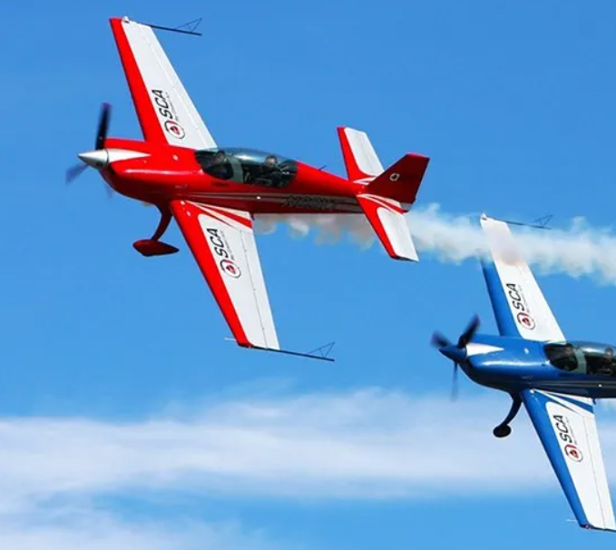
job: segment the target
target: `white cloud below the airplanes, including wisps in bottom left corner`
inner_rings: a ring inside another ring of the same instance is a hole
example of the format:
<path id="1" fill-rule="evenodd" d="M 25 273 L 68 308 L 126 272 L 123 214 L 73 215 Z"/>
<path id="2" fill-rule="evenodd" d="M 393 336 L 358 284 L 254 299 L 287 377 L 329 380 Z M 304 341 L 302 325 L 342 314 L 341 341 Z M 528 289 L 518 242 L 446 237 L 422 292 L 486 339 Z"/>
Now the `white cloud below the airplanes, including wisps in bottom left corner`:
<path id="1" fill-rule="evenodd" d="M 512 437 L 492 436 L 508 405 L 496 395 L 452 404 L 367 389 L 208 400 L 190 414 L 171 407 L 172 414 L 132 422 L 5 418 L 0 548 L 280 546 L 238 525 L 117 516 L 100 505 L 114 496 L 160 503 L 165 495 L 374 500 L 559 491 L 524 413 Z M 600 424 L 610 474 L 616 423 L 609 408 Z"/>

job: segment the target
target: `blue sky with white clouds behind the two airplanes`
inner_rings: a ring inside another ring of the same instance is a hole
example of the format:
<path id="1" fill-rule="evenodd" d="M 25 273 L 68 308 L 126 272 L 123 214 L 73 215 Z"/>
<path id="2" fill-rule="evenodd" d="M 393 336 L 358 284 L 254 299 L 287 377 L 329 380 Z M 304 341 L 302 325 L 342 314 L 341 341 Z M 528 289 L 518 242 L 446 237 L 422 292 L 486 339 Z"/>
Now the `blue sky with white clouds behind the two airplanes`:
<path id="1" fill-rule="evenodd" d="M 0 39 L 3 547 L 613 545 L 567 522 L 525 416 L 494 440 L 506 398 L 463 381 L 447 401 L 430 334 L 474 312 L 495 329 L 476 261 L 263 235 L 281 341 L 335 339 L 337 362 L 251 353 L 225 341 L 175 226 L 181 253 L 144 259 L 131 244 L 155 211 L 108 200 L 93 172 L 64 186 L 101 103 L 112 135 L 140 135 L 108 17 L 202 16 L 200 39 L 161 43 L 217 142 L 343 173 L 336 126 L 351 125 L 385 165 L 431 157 L 418 209 L 610 231 L 611 2 L 39 4 L 5 6 Z M 540 284 L 566 335 L 615 339 L 613 284 Z M 616 480 L 616 419 L 600 415 Z"/>

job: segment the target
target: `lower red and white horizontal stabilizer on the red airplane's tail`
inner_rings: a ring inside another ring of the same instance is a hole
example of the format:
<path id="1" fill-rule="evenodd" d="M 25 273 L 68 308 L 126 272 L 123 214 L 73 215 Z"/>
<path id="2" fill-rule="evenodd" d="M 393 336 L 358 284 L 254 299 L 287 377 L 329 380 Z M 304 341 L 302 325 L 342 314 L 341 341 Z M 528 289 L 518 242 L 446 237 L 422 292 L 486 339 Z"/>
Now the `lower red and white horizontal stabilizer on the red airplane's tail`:
<path id="1" fill-rule="evenodd" d="M 387 254 L 395 260 L 419 260 L 399 202 L 368 194 L 357 195 L 357 201 Z"/>

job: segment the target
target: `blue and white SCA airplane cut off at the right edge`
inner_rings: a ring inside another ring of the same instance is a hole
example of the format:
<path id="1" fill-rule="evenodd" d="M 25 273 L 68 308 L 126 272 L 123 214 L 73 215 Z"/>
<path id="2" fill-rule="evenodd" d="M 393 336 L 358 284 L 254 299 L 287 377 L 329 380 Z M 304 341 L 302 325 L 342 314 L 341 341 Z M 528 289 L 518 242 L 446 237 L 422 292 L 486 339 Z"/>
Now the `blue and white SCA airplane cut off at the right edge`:
<path id="1" fill-rule="evenodd" d="M 492 252 L 483 261 L 499 336 L 477 334 L 475 316 L 456 343 L 433 344 L 474 382 L 506 391 L 512 407 L 494 427 L 507 437 L 522 404 L 550 458 L 572 512 L 586 529 L 616 531 L 593 406 L 616 398 L 616 346 L 564 338 L 507 223 L 481 216 Z"/>

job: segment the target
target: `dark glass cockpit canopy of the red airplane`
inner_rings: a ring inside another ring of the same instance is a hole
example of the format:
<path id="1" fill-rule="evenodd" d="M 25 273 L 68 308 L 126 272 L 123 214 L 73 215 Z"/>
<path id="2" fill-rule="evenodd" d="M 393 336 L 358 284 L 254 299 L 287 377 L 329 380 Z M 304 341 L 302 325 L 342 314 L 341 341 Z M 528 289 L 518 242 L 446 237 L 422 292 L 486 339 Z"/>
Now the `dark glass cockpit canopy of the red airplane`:
<path id="1" fill-rule="evenodd" d="M 195 155 L 203 172 L 226 182 L 282 189 L 298 173 L 297 162 L 256 149 L 202 149 Z"/>

